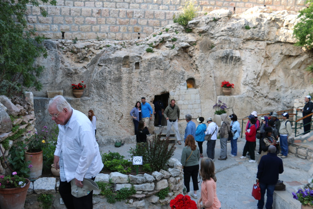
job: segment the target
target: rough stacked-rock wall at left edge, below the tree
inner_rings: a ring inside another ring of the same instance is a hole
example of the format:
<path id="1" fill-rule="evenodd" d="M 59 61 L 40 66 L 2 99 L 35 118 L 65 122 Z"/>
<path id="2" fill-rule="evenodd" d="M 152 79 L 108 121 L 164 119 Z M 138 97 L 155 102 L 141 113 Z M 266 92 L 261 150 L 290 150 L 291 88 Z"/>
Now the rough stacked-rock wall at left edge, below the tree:
<path id="1" fill-rule="evenodd" d="M 29 135 L 33 135 L 36 132 L 33 93 L 27 91 L 25 93 L 24 102 L 19 99 L 17 100 L 20 104 L 14 105 L 8 97 L 0 96 L 0 147 L 6 159 L 8 158 L 9 150 L 16 142 L 23 141 L 28 138 Z M 18 118 L 11 122 L 9 115 L 18 116 Z M 12 132 L 12 127 L 17 125 L 19 126 L 18 129 Z M 8 140 L 8 143 L 5 141 L 5 139 L 13 136 L 22 128 L 25 128 L 25 132 L 22 133 L 21 137 L 15 140 Z M 7 149 L 4 148 L 4 143 L 8 144 Z M 7 169 L 8 166 L 4 163 L 1 152 L 0 157 L 0 175 L 11 174 L 10 170 Z M 6 170 L 8 170 L 7 174 Z"/>

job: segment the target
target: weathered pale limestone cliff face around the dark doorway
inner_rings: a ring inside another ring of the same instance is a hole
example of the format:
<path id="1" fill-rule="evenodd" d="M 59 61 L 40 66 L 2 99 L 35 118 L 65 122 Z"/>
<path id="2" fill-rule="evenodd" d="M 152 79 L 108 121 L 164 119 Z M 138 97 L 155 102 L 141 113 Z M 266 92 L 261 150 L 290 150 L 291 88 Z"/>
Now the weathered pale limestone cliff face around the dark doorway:
<path id="1" fill-rule="evenodd" d="M 213 117 L 218 100 L 226 103 L 227 114 L 238 118 L 254 110 L 261 114 L 289 109 L 311 87 L 304 69 L 312 63 L 312 55 L 294 45 L 296 18 L 297 13 L 264 7 L 236 15 L 214 10 L 190 21 L 191 33 L 172 24 L 165 27 L 168 31 L 164 28 L 163 34 L 144 41 L 104 43 L 103 47 L 84 42 L 84 55 L 71 52 L 77 44 L 67 43 L 67 51 L 61 50 L 65 43 L 47 41 L 48 58 L 38 60 L 47 69 L 41 79 L 44 87 L 33 91 L 38 124 L 53 123 L 45 117 L 48 99 L 39 97 L 46 97 L 47 90 L 62 89 L 75 109 L 94 110 L 98 138 L 133 135 L 129 112 L 141 97 L 150 104 L 157 95 L 175 99 L 180 119 L 187 113 L 193 119 Z M 148 44 L 154 47 L 153 53 L 146 52 Z M 188 79 L 195 88 L 187 88 Z M 221 96 L 224 80 L 234 84 L 229 97 Z M 80 81 L 87 88 L 76 99 L 70 84 Z M 181 133 L 185 126 L 182 120 Z"/>

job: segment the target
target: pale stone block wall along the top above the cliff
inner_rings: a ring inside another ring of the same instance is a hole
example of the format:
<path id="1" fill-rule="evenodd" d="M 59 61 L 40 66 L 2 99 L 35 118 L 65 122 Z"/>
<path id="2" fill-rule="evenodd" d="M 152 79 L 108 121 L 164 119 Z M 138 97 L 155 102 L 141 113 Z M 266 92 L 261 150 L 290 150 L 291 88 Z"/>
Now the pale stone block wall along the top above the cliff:
<path id="1" fill-rule="evenodd" d="M 173 15 L 182 11 L 186 0 L 57 0 L 57 6 L 39 5 L 48 16 L 40 15 L 39 7 L 28 7 L 30 29 L 50 39 L 113 39 L 146 38 L 159 27 L 173 23 Z M 299 11 L 305 0 L 202 0 L 197 1 L 199 15 L 215 9 L 241 13 L 254 6 L 275 10 Z"/>

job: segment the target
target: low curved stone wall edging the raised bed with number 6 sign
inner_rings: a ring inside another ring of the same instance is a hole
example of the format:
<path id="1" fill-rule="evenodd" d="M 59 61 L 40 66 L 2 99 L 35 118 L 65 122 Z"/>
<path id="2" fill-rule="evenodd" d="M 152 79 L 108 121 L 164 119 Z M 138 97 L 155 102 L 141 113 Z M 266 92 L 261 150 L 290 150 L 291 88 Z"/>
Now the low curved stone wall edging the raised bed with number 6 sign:
<path id="1" fill-rule="evenodd" d="M 110 174 L 98 174 L 95 181 L 109 183 L 111 179 L 115 183 L 115 191 L 121 188 L 130 188 L 134 185 L 136 194 L 131 195 L 125 201 L 110 204 L 104 196 L 100 195 L 100 190 L 94 191 L 93 203 L 94 208 L 167 208 L 169 202 L 178 194 L 182 194 L 183 173 L 182 164 L 174 158 L 169 160 L 168 165 L 171 167 L 167 171 L 154 171 L 152 175 L 125 175 L 118 172 Z M 170 192 L 165 199 L 160 199 L 156 193 L 169 187 Z M 53 194 L 54 208 L 64 208 L 59 204 L 59 181 L 56 178 L 39 178 L 31 182 L 26 197 L 25 209 L 36 208 L 38 206 L 39 194 Z"/>

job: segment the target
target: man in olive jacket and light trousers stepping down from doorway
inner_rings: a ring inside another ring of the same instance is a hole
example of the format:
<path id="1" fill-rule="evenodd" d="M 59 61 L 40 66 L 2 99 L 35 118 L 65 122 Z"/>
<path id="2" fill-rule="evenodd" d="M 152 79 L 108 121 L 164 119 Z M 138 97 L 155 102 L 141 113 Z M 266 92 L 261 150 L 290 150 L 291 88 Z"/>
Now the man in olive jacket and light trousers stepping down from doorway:
<path id="1" fill-rule="evenodd" d="M 181 138 L 180 138 L 180 134 L 178 131 L 179 113 L 180 113 L 179 107 L 175 105 L 175 99 L 172 99 L 170 105 L 167 106 L 164 111 L 164 117 L 166 118 L 166 121 L 167 121 L 166 139 L 169 138 L 170 133 L 171 133 L 171 128 L 173 126 L 175 134 L 176 134 L 176 138 L 177 138 L 177 143 L 182 144 L 180 142 Z"/>

